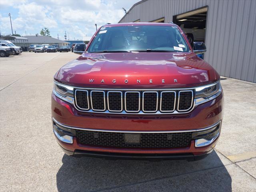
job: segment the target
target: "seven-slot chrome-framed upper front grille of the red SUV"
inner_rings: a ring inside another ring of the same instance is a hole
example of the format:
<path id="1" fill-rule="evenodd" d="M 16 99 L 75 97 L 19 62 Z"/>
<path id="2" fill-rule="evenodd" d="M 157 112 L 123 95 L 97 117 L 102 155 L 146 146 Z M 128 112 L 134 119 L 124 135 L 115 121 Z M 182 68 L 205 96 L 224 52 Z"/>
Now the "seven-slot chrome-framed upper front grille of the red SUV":
<path id="1" fill-rule="evenodd" d="M 194 106 L 193 90 L 75 90 L 80 111 L 114 114 L 185 113 Z"/>

